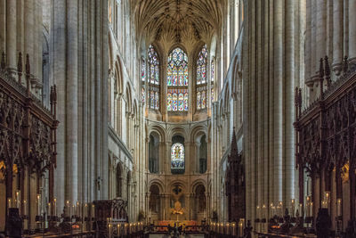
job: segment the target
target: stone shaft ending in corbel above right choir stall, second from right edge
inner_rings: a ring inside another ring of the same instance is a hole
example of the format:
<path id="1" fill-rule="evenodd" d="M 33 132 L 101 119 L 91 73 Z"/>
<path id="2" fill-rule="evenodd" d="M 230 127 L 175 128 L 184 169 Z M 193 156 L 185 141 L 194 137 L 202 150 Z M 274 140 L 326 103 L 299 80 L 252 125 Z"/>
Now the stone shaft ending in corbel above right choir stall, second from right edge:
<path id="1" fill-rule="evenodd" d="M 343 60 L 343 33 L 344 33 L 344 1 L 333 2 L 333 70 L 336 75 L 340 74 Z"/>

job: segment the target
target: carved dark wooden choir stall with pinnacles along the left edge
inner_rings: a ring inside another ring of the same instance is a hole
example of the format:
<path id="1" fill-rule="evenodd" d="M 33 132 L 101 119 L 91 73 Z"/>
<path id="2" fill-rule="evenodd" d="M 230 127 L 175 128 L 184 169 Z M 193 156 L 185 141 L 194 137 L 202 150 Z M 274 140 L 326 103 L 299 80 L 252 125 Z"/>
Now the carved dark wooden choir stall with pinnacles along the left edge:
<path id="1" fill-rule="evenodd" d="M 22 61 L 19 53 L 9 70 L 3 53 L 0 67 L 0 232 L 11 237 L 48 227 L 56 205 L 56 88 L 47 109 L 32 93 L 28 55 L 24 73 Z"/>

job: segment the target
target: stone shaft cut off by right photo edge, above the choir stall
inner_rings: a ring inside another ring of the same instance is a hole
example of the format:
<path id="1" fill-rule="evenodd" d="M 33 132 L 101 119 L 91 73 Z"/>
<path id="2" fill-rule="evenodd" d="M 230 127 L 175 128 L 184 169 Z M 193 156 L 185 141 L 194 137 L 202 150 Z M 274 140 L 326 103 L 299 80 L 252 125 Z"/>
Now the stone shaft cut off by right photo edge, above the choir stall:
<path id="1" fill-rule="evenodd" d="M 356 63 L 356 1 L 349 0 L 349 59 Z"/>

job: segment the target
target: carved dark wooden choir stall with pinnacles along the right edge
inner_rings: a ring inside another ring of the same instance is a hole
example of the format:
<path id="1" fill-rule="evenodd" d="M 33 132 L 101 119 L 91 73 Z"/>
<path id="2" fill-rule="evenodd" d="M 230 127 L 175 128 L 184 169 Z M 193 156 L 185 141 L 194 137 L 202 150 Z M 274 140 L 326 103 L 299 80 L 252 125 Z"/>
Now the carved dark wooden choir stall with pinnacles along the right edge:
<path id="1" fill-rule="evenodd" d="M 295 89 L 299 202 L 318 235 L 356 237 L 356 66 L 347 62 L 331 81 L 328 57 L 320 60 L 320 97 L 303 111 L 302 90 Z"/>

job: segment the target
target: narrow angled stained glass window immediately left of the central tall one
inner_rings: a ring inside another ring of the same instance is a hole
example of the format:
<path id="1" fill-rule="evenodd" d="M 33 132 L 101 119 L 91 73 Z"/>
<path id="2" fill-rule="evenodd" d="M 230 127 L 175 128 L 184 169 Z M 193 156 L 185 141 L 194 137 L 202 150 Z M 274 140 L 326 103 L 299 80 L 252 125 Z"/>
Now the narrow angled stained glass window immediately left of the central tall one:
<path id="1" fill-rule="evenodd" d="M 149 62 L 146 76 L 147 104 L 150 109 L 159 109 L 159 61 L 158 54 L 153 47 L 149 47 Z"/>

